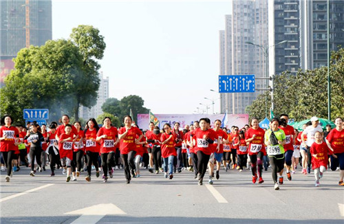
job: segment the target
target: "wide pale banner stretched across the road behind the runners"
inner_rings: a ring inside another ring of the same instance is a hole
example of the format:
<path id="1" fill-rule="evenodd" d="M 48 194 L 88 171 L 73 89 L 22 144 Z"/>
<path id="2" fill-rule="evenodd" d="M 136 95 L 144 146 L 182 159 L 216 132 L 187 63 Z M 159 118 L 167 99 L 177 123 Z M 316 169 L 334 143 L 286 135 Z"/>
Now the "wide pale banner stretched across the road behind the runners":
<path id="1" fill-rule="evenodd" d="M 159 120 L 160 129 L 166 123 L 171 124 L 173 127 L 175 122 L 179 122 L 180 128 L 184 128 L 186 124 L 193 124 L 195 120 L 200 120 L 202 117 L 208 117 L 211 120 L 211 126 L 213 126 L 215 120 L 221 120 L 227 128 L 230 128 L 233 125 L 243 128 L 245 124 L 248 124 L 248 114 L 155 114 L 155 117 Z M 148 113 L 138 114 L 138 126 L 142 128 L 142 130 L 146 130 L 148 128 Z"/>

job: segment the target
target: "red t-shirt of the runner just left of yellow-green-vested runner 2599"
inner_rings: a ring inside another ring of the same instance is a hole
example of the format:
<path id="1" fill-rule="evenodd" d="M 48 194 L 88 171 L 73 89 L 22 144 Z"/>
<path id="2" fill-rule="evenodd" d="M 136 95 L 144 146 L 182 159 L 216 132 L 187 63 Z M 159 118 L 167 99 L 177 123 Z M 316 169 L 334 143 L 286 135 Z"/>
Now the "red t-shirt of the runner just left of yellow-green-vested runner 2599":
<path id="1" fill-rule="evenodd" d="M 264 134 L 265 131 L 263 128 L 248 128 L 248 131 L 245 133 L 245 139 L 252 138 L 253 135 L 256 135 L 255 139 L 250 142 L 248 146 L 248 155 L 257 155 L 259 151 L 263 152 L 266 155 L 266 149 L 264 146 Z"/>

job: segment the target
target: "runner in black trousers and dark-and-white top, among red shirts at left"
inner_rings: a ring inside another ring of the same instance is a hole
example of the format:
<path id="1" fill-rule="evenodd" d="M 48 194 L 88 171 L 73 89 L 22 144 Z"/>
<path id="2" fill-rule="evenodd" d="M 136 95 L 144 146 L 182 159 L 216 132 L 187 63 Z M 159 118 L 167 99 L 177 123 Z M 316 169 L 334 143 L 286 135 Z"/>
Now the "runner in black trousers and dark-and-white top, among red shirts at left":
<path id="1" fill-rule="evenodd" d="M 34 160 L 39 166 L 39 172 L 42 172 L 42 163 L 41 163 L 41 155 L 42 155 L 42 143 L 45 141 L 42 133 L 38 131 L 39 124 L 31 124 L 31 132 L 28 131 L 26 133 L 24 139 L 28 139 L 30 144 L 30 159 L 31 159 L 31 172 L 30 175 L 34 177 Z"/>

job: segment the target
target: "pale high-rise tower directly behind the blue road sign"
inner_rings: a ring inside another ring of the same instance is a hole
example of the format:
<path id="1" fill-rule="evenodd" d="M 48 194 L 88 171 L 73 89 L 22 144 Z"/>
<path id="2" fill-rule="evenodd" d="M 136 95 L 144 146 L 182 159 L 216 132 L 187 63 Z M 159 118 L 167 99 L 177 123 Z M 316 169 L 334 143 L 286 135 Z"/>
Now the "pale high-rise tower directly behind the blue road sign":
<path id="1" fill-rule="evenodd" d="M 266 57 L 255 45 L 268 45 L 268 0 L 233 1 L 233 12 L 226 15 L 225 75 L 266 76 Z M 221 34 L 221 33 L 220 33 Z M 220 51 L 221 53 L 221 51 Z M 222 58 L 222 56 L 220 56 Z M 221 64 L 220 64 L 221 65 Z M 222 72 L 220 67 L 220 72 Z M 256 80 L 256 89 L 266 89 L 266 80 Z M 259 92 L 221 93 L 221 113 L 245 113 Z"/>

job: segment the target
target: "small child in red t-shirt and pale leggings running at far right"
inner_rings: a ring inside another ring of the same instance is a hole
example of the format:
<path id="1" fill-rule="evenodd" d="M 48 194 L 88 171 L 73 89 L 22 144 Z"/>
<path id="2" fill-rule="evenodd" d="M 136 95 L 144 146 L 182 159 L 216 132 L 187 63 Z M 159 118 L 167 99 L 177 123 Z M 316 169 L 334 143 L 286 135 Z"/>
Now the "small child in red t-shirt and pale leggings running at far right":
<path id="1" fill-rule="evenodd" d="M 327 170 L 327 153 L 332 155 L 335 159 L 336 155 L 323 142 L 323 133 L 316 131 L 314 133 L 315 142 L 310 146 L 310 154 L 312 155 L 312 170 L 314 170 L 315 186 L 319 187 L 319 179 L 323 177 L 323 172 Z"/>

